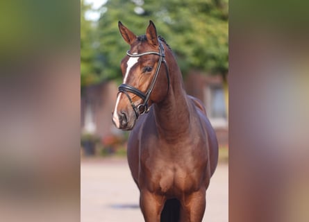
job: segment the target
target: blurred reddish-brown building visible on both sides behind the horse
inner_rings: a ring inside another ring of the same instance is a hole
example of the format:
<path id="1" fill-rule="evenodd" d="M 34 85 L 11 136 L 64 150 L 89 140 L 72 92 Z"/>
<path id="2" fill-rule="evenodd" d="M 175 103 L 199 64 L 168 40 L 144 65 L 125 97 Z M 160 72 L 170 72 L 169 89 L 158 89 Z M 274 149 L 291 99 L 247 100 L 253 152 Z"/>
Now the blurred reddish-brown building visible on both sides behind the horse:
<path id="1" fill-rule="evenodd" d="M 219 145 L 228 146 L 228 117 L 222 76 L 206 76 L 192 71 L 185 78 L 187 94 L 200 99 L 212 126 L 217 133 Z M 104 138 L 122 135 L 112 124 L 112 109 L 115 106 L 117 85 L 114 82 L 86 87 L 81 96 L 81 132 Z"/>

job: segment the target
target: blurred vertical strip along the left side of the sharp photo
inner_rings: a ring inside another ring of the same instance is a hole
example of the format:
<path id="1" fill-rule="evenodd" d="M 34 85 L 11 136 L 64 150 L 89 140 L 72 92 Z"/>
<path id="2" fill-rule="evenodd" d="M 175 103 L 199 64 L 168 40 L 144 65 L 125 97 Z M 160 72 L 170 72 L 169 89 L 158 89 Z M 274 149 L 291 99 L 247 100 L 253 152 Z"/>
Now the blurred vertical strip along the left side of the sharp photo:
<path id="1" fill-rule="evenodd" d="M 79 6 L 0 3 L 1 221 L 80 218 Z"/>

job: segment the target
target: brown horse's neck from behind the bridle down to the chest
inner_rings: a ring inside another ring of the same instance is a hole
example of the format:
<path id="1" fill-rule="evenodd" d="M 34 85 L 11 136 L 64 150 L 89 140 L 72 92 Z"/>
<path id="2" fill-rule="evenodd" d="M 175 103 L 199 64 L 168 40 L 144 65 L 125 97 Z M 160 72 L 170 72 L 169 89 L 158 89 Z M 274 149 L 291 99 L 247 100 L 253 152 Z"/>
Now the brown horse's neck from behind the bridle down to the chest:
<path id="1" fill-rule="evenodd" d="M 183 87 L 183 78 L 172 52 L 167 51 L 169 92 L 163 101 L 154 104 L 156 126 L 159 135 L 166 140 L 178 140 L 190 130 L 190 110 Z"/>

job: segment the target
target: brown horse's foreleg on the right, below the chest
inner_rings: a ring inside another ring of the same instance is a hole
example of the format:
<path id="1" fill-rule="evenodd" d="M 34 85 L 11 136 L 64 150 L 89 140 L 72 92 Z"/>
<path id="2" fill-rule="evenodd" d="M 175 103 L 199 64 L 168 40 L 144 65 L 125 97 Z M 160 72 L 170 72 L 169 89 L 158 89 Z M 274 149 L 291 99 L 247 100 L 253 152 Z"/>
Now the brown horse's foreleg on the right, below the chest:
<path id="1" fill-rule="evenodd" d="M 181 222 L 201 222 L 206 207 L 206 191 L 201 189 L 186 194 L 181 203 Z"/>

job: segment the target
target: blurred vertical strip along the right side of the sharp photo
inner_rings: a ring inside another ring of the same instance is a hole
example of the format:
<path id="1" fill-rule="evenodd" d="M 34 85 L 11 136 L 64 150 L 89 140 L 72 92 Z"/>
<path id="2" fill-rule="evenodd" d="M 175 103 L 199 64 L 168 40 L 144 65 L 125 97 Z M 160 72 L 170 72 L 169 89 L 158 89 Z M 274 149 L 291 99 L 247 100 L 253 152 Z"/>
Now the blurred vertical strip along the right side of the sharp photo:
<path id="1" fill-rule="evenodd" d="M 306 8 L 230 4 L 229 221 L 309 218 Z"/>

